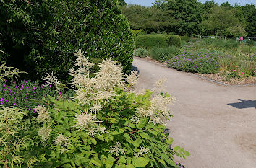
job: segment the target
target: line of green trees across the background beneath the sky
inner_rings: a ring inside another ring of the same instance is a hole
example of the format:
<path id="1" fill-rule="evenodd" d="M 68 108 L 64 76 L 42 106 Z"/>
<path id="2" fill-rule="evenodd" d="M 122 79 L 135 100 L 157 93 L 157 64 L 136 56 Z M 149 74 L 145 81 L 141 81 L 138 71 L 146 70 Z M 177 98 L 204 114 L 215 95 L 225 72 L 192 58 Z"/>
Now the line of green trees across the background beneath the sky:
<path id="1" fill-rule="evenodd" d="M 153 6 L 123 5 L 130 26 L 146 33 L 256 37 L 256 6 L 218 5 L 213 0 L 157 0 Z"/>

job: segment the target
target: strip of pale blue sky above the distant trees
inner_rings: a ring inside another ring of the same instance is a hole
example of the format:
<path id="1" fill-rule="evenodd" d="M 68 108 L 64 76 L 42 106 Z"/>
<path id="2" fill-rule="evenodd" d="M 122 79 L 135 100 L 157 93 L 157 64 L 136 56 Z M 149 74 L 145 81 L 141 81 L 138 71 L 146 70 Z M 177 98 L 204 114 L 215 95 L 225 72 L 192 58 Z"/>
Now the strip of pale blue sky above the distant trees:
<path id="1" fill-rule="evenodd" d="M 152 3 L 155 0 L 124 0 L 127 4 L 140 4 L 142 6 L 152 6 Z M 205 2 L 207 0 L 200 0 L 201 2 Z M 240 4 L 240 5 L 245 5 L 245 4 L 256 4 L 256 0 L 214 0 L 218 4 L 222 4 L 223 2 L 228 1 L 229 4 L 234 5 L 234 4 Z"/>

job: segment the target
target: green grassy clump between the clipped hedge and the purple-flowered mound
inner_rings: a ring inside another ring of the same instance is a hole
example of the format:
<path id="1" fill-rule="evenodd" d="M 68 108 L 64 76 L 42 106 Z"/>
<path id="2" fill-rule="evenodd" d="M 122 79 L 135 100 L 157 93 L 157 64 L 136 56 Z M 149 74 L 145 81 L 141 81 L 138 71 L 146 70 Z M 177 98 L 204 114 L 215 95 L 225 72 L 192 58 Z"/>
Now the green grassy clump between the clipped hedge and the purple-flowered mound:
<path id="1" fill-rule="evenodd" d="M 173 58 L 174 56 L 176 56 L 178 53 L 179 53 L 179 48 L 177 48 L 176 46 L 163 47 L 163 48 L 155 47 L 150 50 L 150 57 L 155 60 L 165 62 Z"/>

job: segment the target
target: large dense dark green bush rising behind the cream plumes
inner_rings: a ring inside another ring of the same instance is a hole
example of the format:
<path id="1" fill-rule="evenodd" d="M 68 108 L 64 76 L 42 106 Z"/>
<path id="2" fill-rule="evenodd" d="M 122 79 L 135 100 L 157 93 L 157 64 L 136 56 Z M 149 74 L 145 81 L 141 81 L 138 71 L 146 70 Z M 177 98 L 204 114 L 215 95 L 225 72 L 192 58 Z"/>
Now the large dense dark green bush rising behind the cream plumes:
<path id="1" fill-rule="evenodd" d="M 132 32 L 117 1 L 0 1 L 0 15 L 7 64 L 30 78 L 54 71 L 67 83 L 78 49 L 90 58 L 112 57 L 125 73 L 131 69 Z"/>

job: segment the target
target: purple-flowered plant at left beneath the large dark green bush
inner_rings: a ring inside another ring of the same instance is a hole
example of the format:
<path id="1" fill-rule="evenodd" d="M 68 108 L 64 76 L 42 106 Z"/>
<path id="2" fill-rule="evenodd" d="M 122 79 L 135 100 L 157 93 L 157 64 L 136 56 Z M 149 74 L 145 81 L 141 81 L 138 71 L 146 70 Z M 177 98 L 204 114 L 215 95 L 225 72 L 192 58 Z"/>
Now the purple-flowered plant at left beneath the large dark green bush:
<path id="1" fill-rule="evenodd" d="M 21 107 L 29 113 L 35 112 L 38 105 L 52 105 L 50 97 L 70 97 L 72 92 L 62 94 L 64 91 L 56 91 L 54 87 L 38 84 L 33 81 L 3 81 L 0 82 L 0 105 L 4 107 Z"/>

